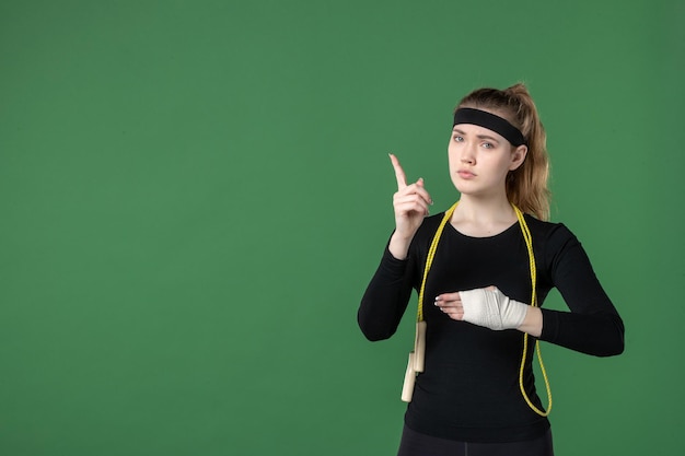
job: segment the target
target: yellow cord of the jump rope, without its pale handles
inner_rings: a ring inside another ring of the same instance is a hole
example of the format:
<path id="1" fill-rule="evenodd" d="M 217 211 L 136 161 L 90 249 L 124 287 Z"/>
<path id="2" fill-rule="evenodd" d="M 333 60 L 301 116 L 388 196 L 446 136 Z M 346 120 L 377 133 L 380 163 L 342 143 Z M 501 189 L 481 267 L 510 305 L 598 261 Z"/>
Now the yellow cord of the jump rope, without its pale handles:
<path id="1" fill-rule="evenodd" d="M 436 231 L 436 235 L 430 243 L 430 247 L 428 248 L 428 256 L 426 258 L 426 267 L 423 268 L 423 278 L 421 279 L 421 287 L 419 289 L 419 303 L 418 303 L 418 314 L 417 319 L 419 321 L 423 321 L 423 292 L 426 291 L 426 281 L 428 279 L 428 272 L 430 271 L 430 267 L 433 264 L 433 258 L 436 257 L 436 252 L 438 250 L 438 243 L 440 242 L 440 236 L 444 230 L 444 226 L 448 224 L 452 214 L 454 213 L 454 209 L 458 206 L 458 201 L 455 202 L 450 209 L 448 209 L 438 226 L 438 231 Z M 521 232 L 523 233 L 523 239 L 525 241 L 525 246 L 529 252 L 529 265 L 531 268 L 531 282 L 532 282 L 532 293 L 531 293 L 531 306 L 537 306 L 537 269 L 535 267 L 535 255 L 533 254 L 533 237 L 531 236 L 531 232 L 529 230 L 529 225 L 525 223 L 525 219 L 523 217 L 523 212 L 514 204 L 511 204 L 514 212 L 516 213 L 516 219 L 519 219 L 519 226 L 521 226 Z M 552 389 L 549 387 L 549 378 L 547 378 L 547 371 L 545 370 L 545 364 L 543 363 L 543 355 L 539 349 L 539 341 L 535 341 L 535 349 L 537 352 L 537 360 L 539 362 L 539 369 L 543 373 L 543 378 L 545 379 L 545 387 L 547 388 L 547 410 L 541 410 L 531 401 L 527 394 L 525 393 L 525 388 L 523 386 L 523 371 L 525 369 L 525 359 L 527 358 L 527 348 L 529 348 L 529 335 L 527 332 L 523 334 L 523 355 L 521 356 L 521 367 L 519 369 L 519 388 L 521 389 L 521 394 L 525 399 L 526 404 L 533 411 L 542 417 L 547 417 L 552 411 Z"/>

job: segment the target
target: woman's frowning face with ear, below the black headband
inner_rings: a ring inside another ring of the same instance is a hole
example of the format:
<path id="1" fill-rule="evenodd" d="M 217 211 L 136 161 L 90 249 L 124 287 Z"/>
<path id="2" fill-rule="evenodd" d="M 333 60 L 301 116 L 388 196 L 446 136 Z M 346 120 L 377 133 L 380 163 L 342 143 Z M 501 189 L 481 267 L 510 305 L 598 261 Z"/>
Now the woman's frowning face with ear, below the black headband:
<path id="1" fill-rule="evenodd" d="M 452 183 L 462 195 L 506 192 L 507 174 L 521 166 L 526 152 L 525 145 L 513 148 L 492 130 L 457 124 L 448 147 Z"/>

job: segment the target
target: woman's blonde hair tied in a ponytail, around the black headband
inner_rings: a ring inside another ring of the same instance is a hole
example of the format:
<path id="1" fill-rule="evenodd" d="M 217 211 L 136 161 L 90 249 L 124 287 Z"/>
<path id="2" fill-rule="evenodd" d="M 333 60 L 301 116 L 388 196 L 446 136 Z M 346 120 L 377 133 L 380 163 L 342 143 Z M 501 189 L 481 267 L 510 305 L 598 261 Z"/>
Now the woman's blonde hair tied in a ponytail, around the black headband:
<path id="1" fill-rule="evenodd" d="M 529 152 L 523 164 L 507 176 L 507 198 L 523 212 L 548 220 L 547 135 L 526 86 L 519 83 L 504 90 L 478 89 L 462 98 L 460 107 L 495 110 L 521 130 Z"/>

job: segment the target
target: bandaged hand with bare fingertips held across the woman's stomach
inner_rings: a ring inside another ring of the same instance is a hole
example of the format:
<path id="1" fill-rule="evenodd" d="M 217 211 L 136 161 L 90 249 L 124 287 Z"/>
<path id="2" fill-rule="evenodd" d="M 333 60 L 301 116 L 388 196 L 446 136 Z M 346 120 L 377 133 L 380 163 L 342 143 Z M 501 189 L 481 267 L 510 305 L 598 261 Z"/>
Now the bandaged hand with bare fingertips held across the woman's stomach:
<path id="1" fill-rule="evenodd" d="M 497 287 L 443 293 L 436 297 L 436 305 L 452 319 L 492 330 L 518 329 L 531 307 L 510 300 Z"/>

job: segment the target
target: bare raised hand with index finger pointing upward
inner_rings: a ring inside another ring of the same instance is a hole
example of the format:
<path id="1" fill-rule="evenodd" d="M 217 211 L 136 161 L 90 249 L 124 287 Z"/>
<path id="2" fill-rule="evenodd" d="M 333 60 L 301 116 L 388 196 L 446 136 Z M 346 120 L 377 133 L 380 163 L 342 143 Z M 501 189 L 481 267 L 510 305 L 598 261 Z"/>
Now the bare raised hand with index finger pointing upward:
<path id="1" fill-rule="evenodd" d="M 397 157 L 390 154 L 390 160 L 395 168 L 397 179 L 397 192 L 393 196 L 395 208 L 395 234 L 405 241 L 411 241 L 416 231 L 428 215 L 428 207 L 432 204 L 432 199 L 423 187 L 423 179 L 407 185 L 405 172 Z"/>

